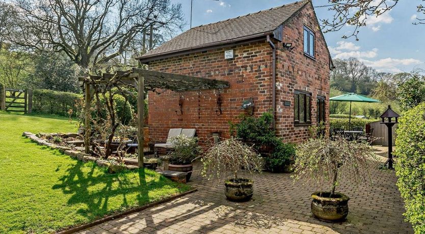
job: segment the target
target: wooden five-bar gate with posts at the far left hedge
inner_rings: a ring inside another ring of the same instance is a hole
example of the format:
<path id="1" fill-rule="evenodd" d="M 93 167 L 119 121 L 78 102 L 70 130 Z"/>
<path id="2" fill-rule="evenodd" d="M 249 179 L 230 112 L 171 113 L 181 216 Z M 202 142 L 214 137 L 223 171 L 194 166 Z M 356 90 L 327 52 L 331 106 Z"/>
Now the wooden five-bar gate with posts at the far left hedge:
<path id="1" fill-rule="evenodd" d="M 31 113 L 33 109 L 33 90 L 7 89 L 0 92 L 0 110 Z"/>

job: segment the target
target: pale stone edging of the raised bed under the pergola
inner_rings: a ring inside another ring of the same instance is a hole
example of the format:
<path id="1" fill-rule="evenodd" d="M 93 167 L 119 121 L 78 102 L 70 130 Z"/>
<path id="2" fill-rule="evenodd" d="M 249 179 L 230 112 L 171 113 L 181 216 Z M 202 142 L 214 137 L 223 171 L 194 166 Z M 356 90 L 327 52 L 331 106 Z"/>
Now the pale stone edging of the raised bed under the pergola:
<path id="1" fill-rule="evenodd" d="M 101 166 L 101 167 L 110 167 L 111 166 L 111 163 L 108 162 L 107 160 L 98 159 L 98 158 L 93 157 L 89 154 L 85 154 L 83 152 L 78 152 L 78 151 L 73 151 L 70 148 L 47 142 L 46 140 L 37 137 L 34 133 L 23 132 L 22 136 L 25 136 L 26 138 L 30 138 L 32 141 L 36 142 L 39 145 L 44 145 L 44 146 L 49 147 L 51 149 L 59 150 L 59 152 L 66 154 L 71 158 L 74 158 L 74 159 L 77 159 L 77 160 L 80 160 L 80 161 L 83 161 L 83 162 L 94 162 L 98 166 Z M 125 167 L 125 169 L 128 169 L 128 170 L 139 169 L 139 167 L 135 166 L 135 165 L 123 165 L 123 166 L 114 165 L 114 166 Z"/>

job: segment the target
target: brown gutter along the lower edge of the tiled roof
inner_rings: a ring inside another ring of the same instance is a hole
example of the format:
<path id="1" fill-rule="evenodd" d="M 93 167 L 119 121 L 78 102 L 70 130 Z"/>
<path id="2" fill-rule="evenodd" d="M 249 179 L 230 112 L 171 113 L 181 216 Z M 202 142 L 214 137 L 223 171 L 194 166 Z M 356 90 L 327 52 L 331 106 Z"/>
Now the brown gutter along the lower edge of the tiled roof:
<path id="1" fill-rule="evenodd" d="M 229 46 L 235 46 L 235 45 L 241 45 L 241 44 L 248 44 L 252 42 L 262 41 L 264 40 L 264 36 L 270 36 L 273 35 L 273 31 L 260 33 L 260 34 L 254 34 L 246 37 L 240 37 L 240 38 L 234 38 L 229 39 L 225 41 L 219 41 L 214 43 L 208 43 L 208 44 L 202 44 L 199 46 L 193 46 L 189 48 L 183 48 L 183 49 L 176 49 L 172 51 L 165 51 L 161 53 L 154 53 L 152 55 L 145 55 L 136 57 L 136 60 L 139 60 L 141 64 L 148 64 L 149 62 L 155 61 L 155 60 L 161 60 L 164 58 L 169 57 L 176 57 L 180 55 L 190 54 L 190 53 L 196 53 L 201 51 L 206 51 L 210 49 L 221 49 Z"/>

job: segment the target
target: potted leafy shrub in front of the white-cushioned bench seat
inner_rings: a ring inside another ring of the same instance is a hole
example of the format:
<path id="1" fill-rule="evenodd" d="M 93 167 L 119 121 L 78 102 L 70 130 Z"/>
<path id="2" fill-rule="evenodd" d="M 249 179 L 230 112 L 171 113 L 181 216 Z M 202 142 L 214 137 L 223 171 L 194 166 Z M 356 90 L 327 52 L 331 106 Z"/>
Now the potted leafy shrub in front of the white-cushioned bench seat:
<path id="1" fill-rule="evenodd" d="M 169 157 L 166 157 L 170 162 L 168 169 L 187 172 L 186 181 L 189 181 L 193 170 L 192 161 L 201 153 L 198 138 L 178 135 L 171 138 L 171 143 L 174 151 L 169 154 Z"/>

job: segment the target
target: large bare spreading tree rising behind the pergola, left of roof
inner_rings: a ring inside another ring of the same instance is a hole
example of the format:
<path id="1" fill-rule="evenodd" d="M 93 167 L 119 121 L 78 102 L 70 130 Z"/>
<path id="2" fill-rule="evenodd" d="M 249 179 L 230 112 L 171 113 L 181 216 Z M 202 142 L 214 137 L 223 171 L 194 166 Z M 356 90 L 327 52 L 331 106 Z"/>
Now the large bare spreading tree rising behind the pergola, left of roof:
<path id="1" fill-rule="evenodd" d="M 20 20 L 11 41 L 29 51 L 63 52 L 92 72 L 125 54 L 151 26 L 164 37 L 183 26 L 181 5 L 170 0 L 15 0 L 15 5 Z"/>

